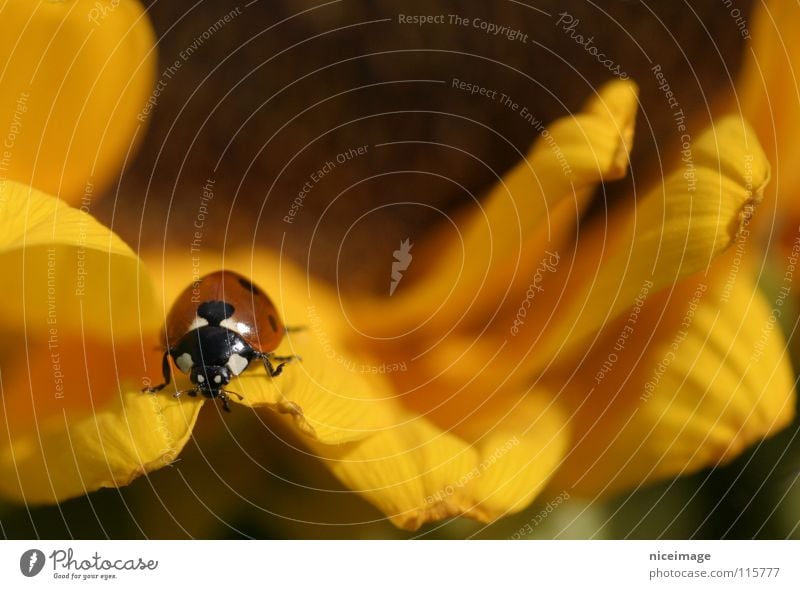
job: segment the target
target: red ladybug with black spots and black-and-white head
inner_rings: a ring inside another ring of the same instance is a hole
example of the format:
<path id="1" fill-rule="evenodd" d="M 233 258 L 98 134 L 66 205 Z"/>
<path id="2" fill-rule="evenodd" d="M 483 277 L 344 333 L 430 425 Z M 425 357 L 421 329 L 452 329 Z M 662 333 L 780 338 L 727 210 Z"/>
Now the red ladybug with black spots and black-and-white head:
<path id="1" fill-rule="evenodd" d="M 162 340 L 164 382 L 142 391 L 155 393 L 170 383 L 172 357 L 194 385 L 175 397 L 199 393 L 220 399 L 225 411 L 230 411 L 228 395 L 244 397 L 225 386 L 251 362 L 261 360 L 270 376 L 278 376 L 288 362 L 298 359 L 271 353 L 290 331 L 266 293 L 244 276 L 229 270 L 203 276 L 178 296 L 167 315 Z"/>

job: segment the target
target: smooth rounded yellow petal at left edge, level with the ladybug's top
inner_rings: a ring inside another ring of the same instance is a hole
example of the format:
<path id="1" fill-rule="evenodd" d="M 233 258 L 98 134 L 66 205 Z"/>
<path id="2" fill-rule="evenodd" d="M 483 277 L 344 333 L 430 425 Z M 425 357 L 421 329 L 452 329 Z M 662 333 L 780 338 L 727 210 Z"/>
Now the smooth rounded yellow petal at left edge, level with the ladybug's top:
<path id="1" fill-rule="evenodd" d="M 108 228 L 14 182 L 0 184 L 0 203 L 5 329 L 119 338 L 158 325 L 146 272 Z"/>

